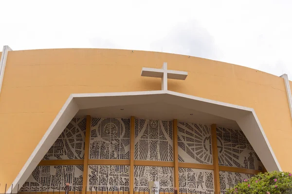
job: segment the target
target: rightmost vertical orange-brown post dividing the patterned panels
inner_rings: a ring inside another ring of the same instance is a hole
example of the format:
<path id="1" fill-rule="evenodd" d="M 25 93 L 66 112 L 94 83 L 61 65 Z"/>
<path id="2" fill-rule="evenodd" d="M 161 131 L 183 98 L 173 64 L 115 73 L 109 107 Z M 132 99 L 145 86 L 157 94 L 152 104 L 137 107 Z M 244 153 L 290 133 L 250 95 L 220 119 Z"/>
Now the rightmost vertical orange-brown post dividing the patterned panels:
<path id="1" fill-rule="evenodd" d="M 212 139 L 212 157 L 214 166 L 214 192 L 218 194 L 220 192 L 220 179 L 219 179 L 219 161 L 218 161 L 218 149 L 217 149 L 217 133 L 216 124 L 211 125 L 211 139 Z"/>

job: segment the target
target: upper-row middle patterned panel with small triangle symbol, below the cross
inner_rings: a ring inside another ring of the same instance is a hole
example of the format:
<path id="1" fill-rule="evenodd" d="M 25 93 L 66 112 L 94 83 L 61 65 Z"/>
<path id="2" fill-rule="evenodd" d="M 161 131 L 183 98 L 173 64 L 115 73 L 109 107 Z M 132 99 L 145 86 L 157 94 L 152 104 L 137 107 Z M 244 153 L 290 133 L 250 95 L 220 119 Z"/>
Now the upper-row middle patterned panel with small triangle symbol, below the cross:
<path id="1" fill-rule="evenodd" d="M 173 161 L 172 121 L 135 119 L 135 160 Z"/>

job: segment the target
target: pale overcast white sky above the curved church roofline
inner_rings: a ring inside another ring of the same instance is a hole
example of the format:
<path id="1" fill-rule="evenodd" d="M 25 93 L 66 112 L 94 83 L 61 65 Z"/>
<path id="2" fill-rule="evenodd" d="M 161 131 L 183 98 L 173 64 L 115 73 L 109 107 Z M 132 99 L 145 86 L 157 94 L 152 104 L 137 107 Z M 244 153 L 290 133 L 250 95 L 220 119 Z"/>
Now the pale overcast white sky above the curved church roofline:
<path id="1" fill-rule="evenodd" d="M 203 57 L 292 80 L 292 0 L 0 0 L 0 47 Z"/>

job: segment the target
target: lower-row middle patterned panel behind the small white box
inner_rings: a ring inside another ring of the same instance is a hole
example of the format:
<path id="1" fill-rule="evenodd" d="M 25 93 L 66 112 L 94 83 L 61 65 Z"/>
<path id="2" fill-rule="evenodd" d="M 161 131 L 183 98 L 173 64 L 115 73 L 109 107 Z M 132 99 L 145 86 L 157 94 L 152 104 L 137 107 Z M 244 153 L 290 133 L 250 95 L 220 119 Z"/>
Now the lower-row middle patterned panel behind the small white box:
<path id="1" fill-rule="evenodd" d="M 173 168 L 158 166 L 134 166 L 135 192 L 148 192 L 149 181 L 159 181 L 160 193 L 173 193 Z"/>

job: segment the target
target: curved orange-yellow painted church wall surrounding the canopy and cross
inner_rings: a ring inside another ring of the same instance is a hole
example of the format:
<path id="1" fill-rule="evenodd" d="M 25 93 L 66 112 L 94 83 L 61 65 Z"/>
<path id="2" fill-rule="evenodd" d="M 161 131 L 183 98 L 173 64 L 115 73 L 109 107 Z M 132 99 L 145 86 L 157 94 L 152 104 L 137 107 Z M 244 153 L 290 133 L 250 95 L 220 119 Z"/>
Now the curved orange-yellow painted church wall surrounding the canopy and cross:
<path id="1" fill-rule="evenodd" d="M 142 67 L 161 68 L 164 62 L 189 74 L 185 81 L 168 80 L 169 90 L 254 108 L 282 169 L 292 172 L 283 78 L 159 52 L 47 49 L 9 51 L 0 94 L 0 183 L 16 178 L 70 94 L 160 90 L 160 79 L 140 74 Z"/>

